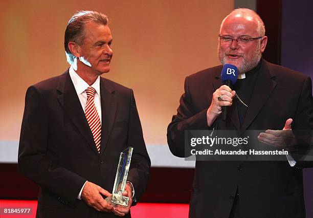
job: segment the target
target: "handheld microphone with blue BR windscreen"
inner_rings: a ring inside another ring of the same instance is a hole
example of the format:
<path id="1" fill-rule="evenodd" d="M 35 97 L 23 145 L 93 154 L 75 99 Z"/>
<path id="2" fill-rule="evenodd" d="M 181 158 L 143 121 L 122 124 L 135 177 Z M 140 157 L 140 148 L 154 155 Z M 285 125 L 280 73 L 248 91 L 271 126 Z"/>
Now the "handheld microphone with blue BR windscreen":
<path id="1" fill-rule="evenodd" d="M 232 86 L 236 83 L 238 78 L 238 69 L 232 64 L 226 63 L 223 66 L 220 78 L 223 84 L 229 86 L 232 89 Z M 227 106 L 222 106 L 222 120 L 226 120 L 227 115 Z"/>

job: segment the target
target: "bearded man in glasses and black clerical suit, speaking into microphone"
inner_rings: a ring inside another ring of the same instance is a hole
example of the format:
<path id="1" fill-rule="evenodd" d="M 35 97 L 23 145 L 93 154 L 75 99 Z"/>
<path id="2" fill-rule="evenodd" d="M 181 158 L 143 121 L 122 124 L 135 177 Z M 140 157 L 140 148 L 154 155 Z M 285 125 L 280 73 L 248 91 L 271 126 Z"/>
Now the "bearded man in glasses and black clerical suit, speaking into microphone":
<path id="1" fill-rule="evenodd" d="M 310 77 L 262 59 L 267 36 L 252 10 L 231 12 L 222 20 L 218 37 L 218 57 L 238 68 L 237 83 L 233 89 L 222 84 L 222 66 L 186 77 L 177 115 L 168 126 L 172 154 L 185 157 L 185 130 L 206 129 L 267 129 L 257 137 L 260 142 L 294 152 L 303 148 L 306 144 L 295 143 L 294 132 L 311 136 Z M 222 106 L 229 107 L 226 121 L 221 119 Z M 196 161 L 189 217 L 304 218 L 302 168 L 312 162 L 293 153 L 283 158 Z"/>

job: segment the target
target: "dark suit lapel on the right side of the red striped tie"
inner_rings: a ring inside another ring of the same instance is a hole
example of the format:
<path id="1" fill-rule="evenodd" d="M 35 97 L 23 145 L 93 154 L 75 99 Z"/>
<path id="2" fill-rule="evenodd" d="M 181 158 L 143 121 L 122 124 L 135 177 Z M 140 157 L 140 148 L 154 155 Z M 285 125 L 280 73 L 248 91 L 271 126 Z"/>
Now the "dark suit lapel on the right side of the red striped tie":
<path id="1" fill-rule="evenodd" d="M 107 148 L 107 143 L 110 137 L 111 130 L 115 121 L 117 100 L 113 87 L 104 79 L 100 79 L 101 93 L 101 114 L 102 114 L 102 129 L 101 129 L 101 148 L 100 156 Z"/>

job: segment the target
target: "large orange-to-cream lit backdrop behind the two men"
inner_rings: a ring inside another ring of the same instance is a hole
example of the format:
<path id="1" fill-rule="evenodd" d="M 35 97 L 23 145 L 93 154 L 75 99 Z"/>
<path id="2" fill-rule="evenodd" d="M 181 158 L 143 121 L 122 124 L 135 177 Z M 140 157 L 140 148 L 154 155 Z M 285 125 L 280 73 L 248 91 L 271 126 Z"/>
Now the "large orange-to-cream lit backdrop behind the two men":
<path id="1" fill-rule="evenodd" d="M 28 86 L 69 68 L 64 30 L 77 10 L 106 13 L 113 33 L 103 77 L 135 92 L 147 145 L 163 145 L 184 78 L 219 64 L 219 25 L 234 8 L 220 1 L 2 1 L 0 141 L 18 141 Z"/>

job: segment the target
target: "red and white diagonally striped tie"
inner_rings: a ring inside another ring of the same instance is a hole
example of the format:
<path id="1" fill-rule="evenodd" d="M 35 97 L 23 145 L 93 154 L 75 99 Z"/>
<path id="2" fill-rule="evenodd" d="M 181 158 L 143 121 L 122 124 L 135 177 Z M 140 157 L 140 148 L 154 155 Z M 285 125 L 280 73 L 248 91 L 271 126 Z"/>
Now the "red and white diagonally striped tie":
<path id="1" fill-rule="evenodd" d="M 95 92 L 96 90 L 91 86 L 86 89 L 87 102 L 85 115 L 90 129 L 92 130 L 97 150 L 100 153 L 101 122 L 95 105 Z"/>

